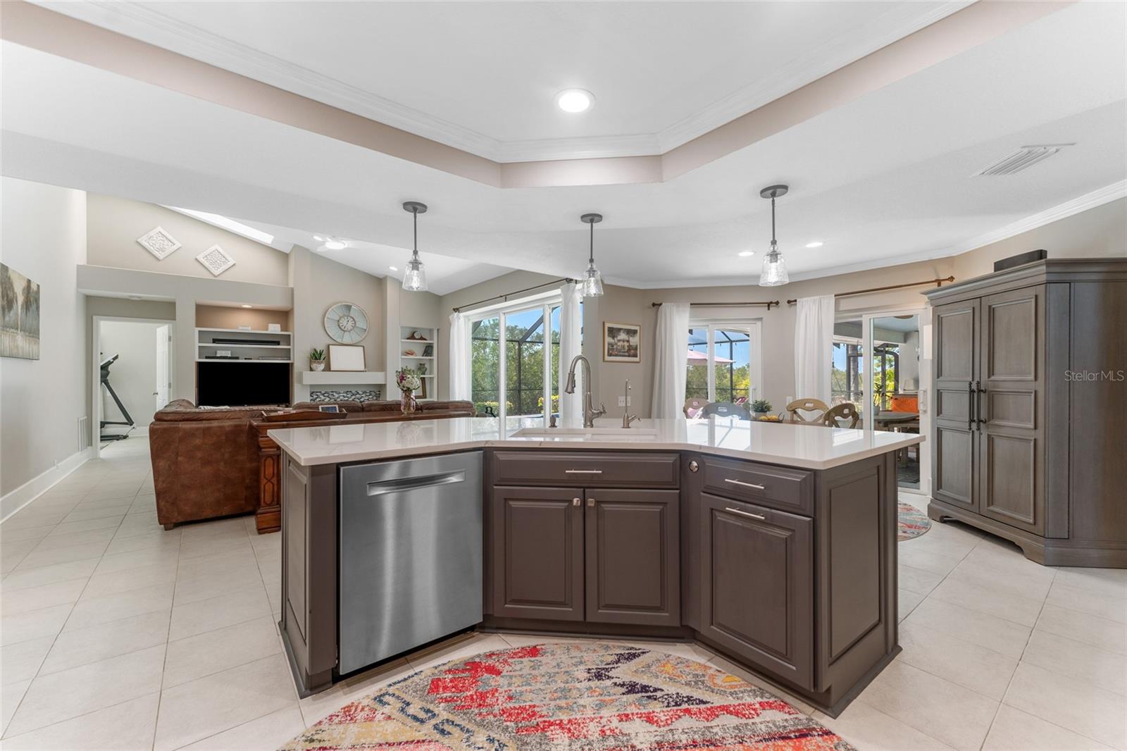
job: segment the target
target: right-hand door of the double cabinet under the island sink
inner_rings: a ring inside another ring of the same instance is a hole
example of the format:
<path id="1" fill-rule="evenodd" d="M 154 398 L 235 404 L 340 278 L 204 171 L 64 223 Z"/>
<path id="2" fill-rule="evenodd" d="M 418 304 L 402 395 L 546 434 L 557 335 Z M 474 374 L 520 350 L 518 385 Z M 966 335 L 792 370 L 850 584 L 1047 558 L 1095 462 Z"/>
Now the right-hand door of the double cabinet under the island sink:
<path id="1" fill-rule="evenodd" d="M 587 620 L 681 622 L 677 491 L 587 491 Z"/>

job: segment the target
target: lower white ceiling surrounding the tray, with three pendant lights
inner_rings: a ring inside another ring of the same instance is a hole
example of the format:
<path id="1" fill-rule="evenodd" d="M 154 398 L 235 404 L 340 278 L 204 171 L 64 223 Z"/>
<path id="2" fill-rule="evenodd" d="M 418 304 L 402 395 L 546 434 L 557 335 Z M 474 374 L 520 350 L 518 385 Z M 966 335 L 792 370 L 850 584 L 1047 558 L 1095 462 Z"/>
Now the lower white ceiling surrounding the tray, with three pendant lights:
<path id="1" fill-rule="evenodd" d="M 357 267 L 405 257 L 410 218 L 400 204 L 421 200 L 431 205 L 419 218 L 424 259 L 442 254 L 488 275 L 577 274 L 587 244 L 578 215 L 598 211 L 598 265 L 635 286 L 753 283 L 770 239 L 758 189 L 784 182 L 779 239 L 802 279 L 951 255 L 1127 179 L 1125 23 L 1122 3 L 1077 3 L 676 179 L 529 189 L 489 187 L 5 43 L 0 166 L 398 249 L 341 258 Z M 1058 142 L 1076 145 L 1015 176 L 973 177 L 1017 147 Z M 814 239 L 825 246 L 802 247 Z M 756 255 L 737 257 L 744 249 Z M 472 283 L 470 271 L 452 284 Z"/>

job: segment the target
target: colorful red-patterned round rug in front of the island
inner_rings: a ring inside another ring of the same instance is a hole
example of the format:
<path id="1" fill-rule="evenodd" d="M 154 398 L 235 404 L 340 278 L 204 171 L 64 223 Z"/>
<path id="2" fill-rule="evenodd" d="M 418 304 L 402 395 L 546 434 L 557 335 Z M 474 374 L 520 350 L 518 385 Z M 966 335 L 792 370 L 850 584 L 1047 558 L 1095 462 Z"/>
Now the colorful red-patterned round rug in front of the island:
<path id="1" fill-rule="evenodd" d="M 285 751 L 852 751 L 782 699 L 704 663 L 605 642 L 499 650 L 419 671 Z"/>

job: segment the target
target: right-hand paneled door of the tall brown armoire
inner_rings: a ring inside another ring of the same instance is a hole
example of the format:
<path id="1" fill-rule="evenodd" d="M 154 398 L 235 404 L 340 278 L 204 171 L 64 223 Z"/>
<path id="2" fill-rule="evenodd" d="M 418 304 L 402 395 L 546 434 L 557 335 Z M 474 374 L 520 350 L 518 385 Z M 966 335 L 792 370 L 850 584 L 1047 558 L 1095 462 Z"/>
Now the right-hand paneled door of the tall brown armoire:
<path id="1" fill-rule="evenodd" d="M 1045 531 L 1045 289 L 982 299 L 978 512 Z"/>

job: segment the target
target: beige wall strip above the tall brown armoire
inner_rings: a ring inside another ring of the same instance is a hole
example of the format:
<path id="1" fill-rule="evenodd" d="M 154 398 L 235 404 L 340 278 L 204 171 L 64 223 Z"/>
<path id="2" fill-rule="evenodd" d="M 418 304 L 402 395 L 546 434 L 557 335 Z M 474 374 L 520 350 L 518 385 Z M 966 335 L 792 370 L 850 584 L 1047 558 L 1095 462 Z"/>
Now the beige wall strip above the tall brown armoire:
<path id="1" fill-rule="evenodd" d="M 1048 250 L 1049 258 L 1127 256 L 1127 198 L 956 256 L 955 275 L 961 280 L 990 274 L 995 260 L 1037 248 Z"/>

